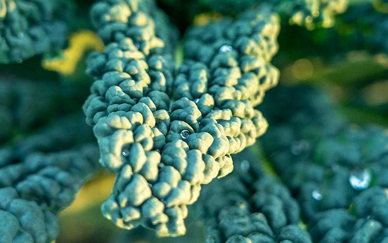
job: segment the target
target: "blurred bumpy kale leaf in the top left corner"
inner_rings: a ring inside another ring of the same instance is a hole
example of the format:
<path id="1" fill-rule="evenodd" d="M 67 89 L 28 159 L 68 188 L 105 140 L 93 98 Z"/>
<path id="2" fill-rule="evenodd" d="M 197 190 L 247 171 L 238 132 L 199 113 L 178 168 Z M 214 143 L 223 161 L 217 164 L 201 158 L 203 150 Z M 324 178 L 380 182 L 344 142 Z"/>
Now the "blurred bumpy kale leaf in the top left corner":
<path id="1" fill-rule="evenodd" d="M 61 48 L 70 15 L 70 1 L 0 0 L 0 63 Z"/>

